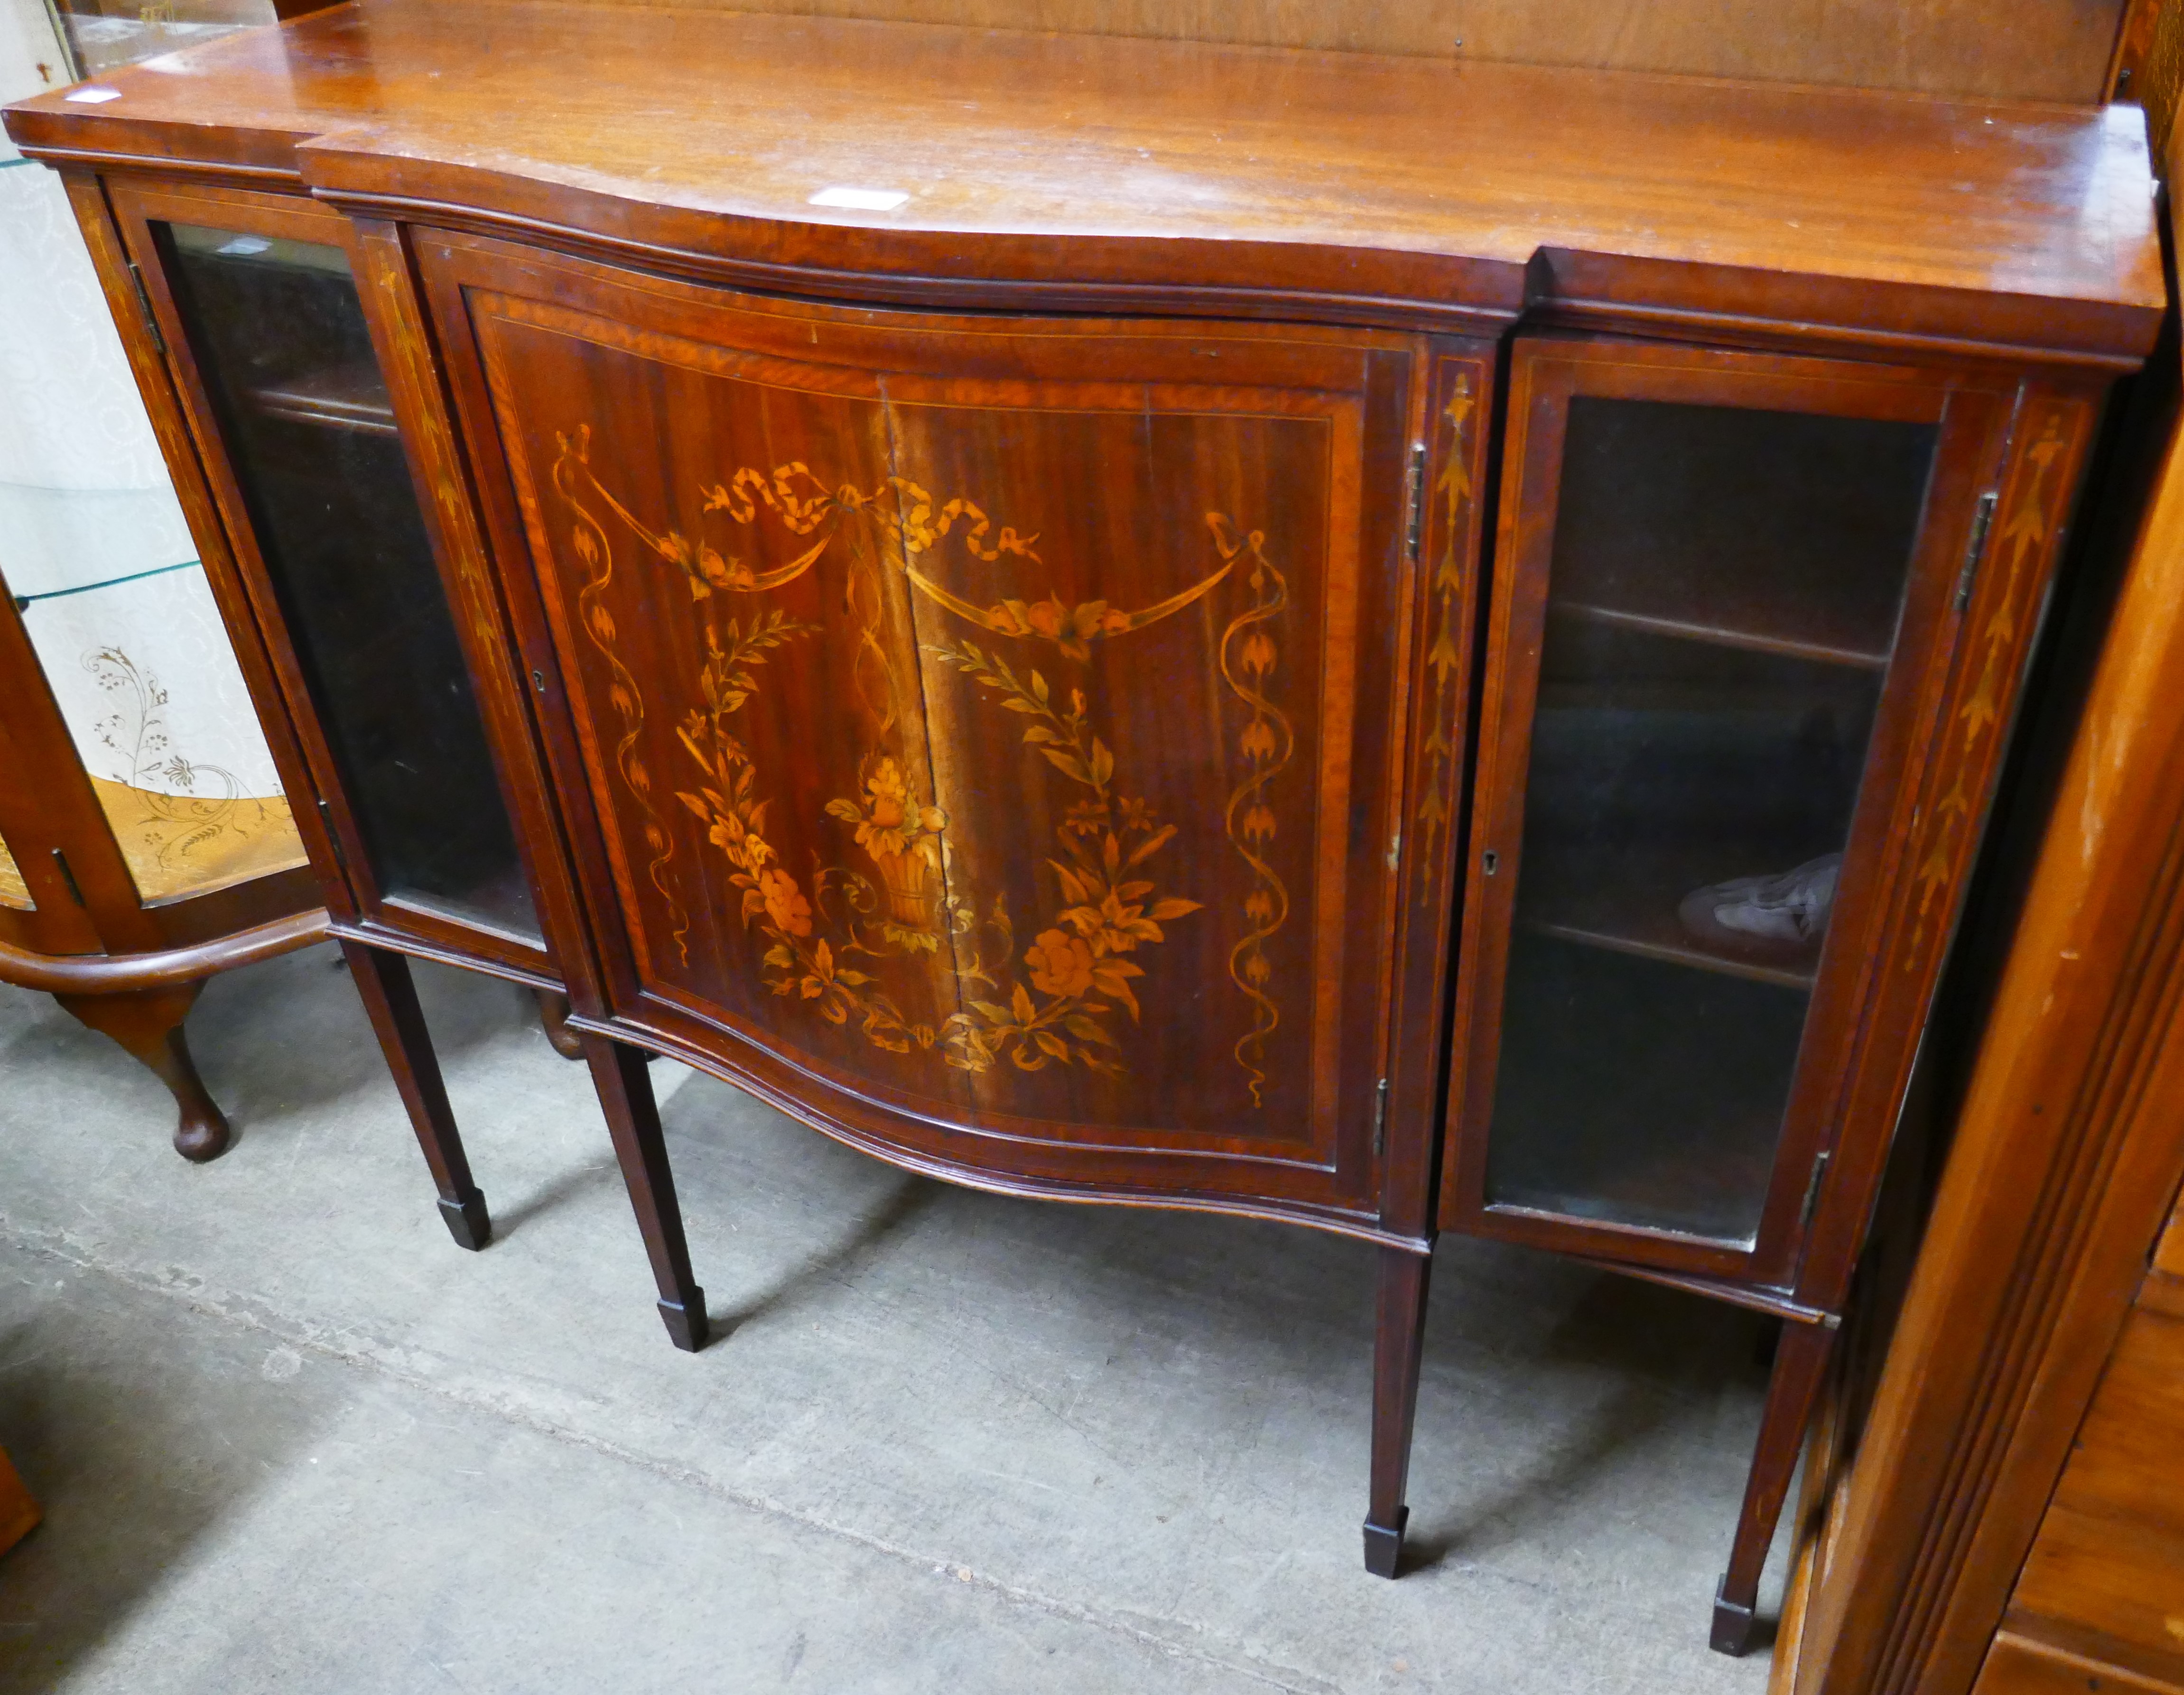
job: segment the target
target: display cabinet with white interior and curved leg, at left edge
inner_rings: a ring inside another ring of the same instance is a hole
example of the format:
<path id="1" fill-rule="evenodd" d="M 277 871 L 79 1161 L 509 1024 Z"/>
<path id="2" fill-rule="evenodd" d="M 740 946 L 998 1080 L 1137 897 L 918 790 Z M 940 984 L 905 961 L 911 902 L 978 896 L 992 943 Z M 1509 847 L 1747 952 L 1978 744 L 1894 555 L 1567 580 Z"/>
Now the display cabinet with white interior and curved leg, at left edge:
<path id="1" fill-rule="evenodd" d="M 57 46 L 0 42 L 0 87 Z M 183 1018 L 325 917 L 68 194 L 0 153 L 0 981 L 144 1062 L 210 1160 Z"/>

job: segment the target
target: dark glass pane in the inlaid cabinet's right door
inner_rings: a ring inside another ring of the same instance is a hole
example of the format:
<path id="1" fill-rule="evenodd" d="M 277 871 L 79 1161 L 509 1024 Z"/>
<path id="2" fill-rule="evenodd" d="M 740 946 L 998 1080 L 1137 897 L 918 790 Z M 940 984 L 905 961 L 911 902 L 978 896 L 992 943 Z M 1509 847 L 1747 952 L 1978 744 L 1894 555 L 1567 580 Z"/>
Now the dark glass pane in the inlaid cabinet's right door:
<path id="1" fill-rule="evenodd" d="M 1756 1236 L 1935 439 L 1570 402 L 1489 1206 Z"/>

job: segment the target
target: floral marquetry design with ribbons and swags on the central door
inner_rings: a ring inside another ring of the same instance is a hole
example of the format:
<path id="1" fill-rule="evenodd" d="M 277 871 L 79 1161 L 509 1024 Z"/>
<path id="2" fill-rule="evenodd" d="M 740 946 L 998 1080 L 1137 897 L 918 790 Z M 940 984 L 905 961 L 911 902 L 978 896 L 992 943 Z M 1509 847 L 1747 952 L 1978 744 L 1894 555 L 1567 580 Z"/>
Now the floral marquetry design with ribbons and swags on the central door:
<path id="1" fill-rule="evenodd" d="M 1295 732 L 1273 692 L 1289 585 L 1267 557 L 1265 533 L 1203 513 L 1203 574 L 1147 605 L 1070 601 L 1035 583 L 989 601 L 946 585 L 943 544 L 1035 577 L 1044 570 L 1040 537 L 998 524 L 970 498 L 939 500 L 904 476 L 871 487 L 830 483 L 802 461 L 747 465 L 699 489 L 699 518 L 716 529 L 684 535 L 649 524 L 594 476 L 587 430 L 557 441 L 553 485 L 585 572 L 577 614 L 609 668 L 607 701 L 620 719 L 614 769 L 642 810 L 644 876 L 666 902 L 677 950 L 688 961 L 699 922 L 697 896 L 681 891 L 670 869 L 675 832 L 662 808 L 679 806 L 701 823 L 736 891 L 736 920 L 758 944 L 749 970 L 773 996 L 860 1031 L 876 1048 L 928 1055 L 972 1075 L 1002 1066 L 1127 1072 L 1131 1033 L 1153 1016 L 1140 998 L 1153 950 L 1171 944 L 1177 926 L 1219 922 L 1173 854 L 1177 823 L 1118 769 L 1101 684 L 1088 666 L 1099 649 L 1241 577 L 1249 601 L 1230 612 L 1216 638 L 1221 679 L 1245 710 L 1219 826 L 1251 887 L 1234 915 L 1236 933 L 1221 946 L 1249 1007 L 1234 1057 L 1254 1105 L 1262 1105 L 1267 1038 L 1282 1018 L 1267 944 L 1289 920 L 1289 891 L 1269 858 L 1280 810 L 1273 786 L 1295 756 Z M 675 692 L 701 706 L 675 725 L 681 762 L 673 771 L 644 760 L 651 684 L 625 657 L 605 605 L 616 548 L 631 544 L 675 572 L 697 625 L 697 675 Z M 775 559 L 760 564 L 767 550 Z M 810 572 L 828 574 L 823 598 L 797 601 L 797 612 L 767 603 Z M 946 614 L 937 627 L 919 625 L 926 633 L 915 644 L 900 627 L 895 581 Z M 812 605 L 828 614 L 815 618 Z M 950 625 L 954 633 L 937 633 Z M 828 719 L 830 736 L 847 734 L 832 725 L 856 725 L 854 782 L 817 804 L 797 795 L 808 773 L 756 756 L 743 730 L 745 710 L 791 662 L 808 666 L 799 679 L 828 677 L 836 692 L 830 706 L 850 710 Z M 957 845 L 963 819 L 950 815 L 961 802 L 943 804 L 924 740 L 924 695 L 939 675 L 968 681 L 981 712 L 1009 714 L 1016 745 L 1053 773 L 1048 784 L 1059 778 L 1059 789 L 1026 797 L 1046 819 L 1046 843 L 1031 850 L 1037 865 L 1024 867 L 1040 891 L 1035 911 L 1011 911 L 1005 891 L 972 887 Z M 791 863 L 791 841 L 821 845 L 808 847 L 808 863 Z"/>

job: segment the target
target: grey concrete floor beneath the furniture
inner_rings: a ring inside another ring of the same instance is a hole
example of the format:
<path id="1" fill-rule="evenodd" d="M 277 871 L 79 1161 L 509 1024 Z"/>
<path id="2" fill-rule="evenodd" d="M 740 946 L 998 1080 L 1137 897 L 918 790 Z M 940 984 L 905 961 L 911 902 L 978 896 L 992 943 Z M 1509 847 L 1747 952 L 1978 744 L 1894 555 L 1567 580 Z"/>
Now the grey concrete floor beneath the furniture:
<path id="1" fill-rule="evenodd" d="M 205 992 L 203 1169 L 0 989 L 0 1446 L 48 1516 L 0 1688 L 1765 1686 L 1706 1649 L 1747 1315 L 1444 1243 L 1385 1584 L 1363 1247 L 946 1188 L 662 1064 L 719 1337 L 677 1354 L 583 1066 L 419 979 L 478 1256 L 330 950 Z"/>

